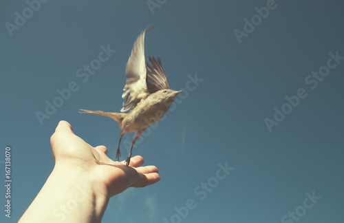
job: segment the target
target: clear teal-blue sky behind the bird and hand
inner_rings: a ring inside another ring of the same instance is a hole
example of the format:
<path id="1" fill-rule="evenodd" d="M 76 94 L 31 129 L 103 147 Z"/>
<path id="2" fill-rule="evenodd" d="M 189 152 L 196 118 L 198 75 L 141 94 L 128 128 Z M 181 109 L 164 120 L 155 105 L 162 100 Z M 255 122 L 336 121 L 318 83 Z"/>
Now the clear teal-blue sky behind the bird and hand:
<path id="1" fill-rule="evenodd" d="M 0 165 L 5 179 L 10 145 L 12 217 L 2 210 L 0 221 L 17 222 L 52 171 L 59 120 L 115 157 L 118 124 L 78 109 L 120 111 L 133 42 L 153 23 L 146 56 L 160 56 L 171 88 L 184 93 L 133 149 L 158 167 L 160 182 L 111 198 L 103 222 L 343 222 L 343 1 L 151 2 L 159 7 L 47 1 L 34 12 L 23 0 L 1 1 Z M 23 10 L 28 19 L 14 28 Z M 94 62 L 87 80 L 77 76 L 102 45 L 116 52 Z M 40 123 L 36 112 L 69 83 L 77 90 Z M 132 138 L 123 138 L 123 159 Z"/>

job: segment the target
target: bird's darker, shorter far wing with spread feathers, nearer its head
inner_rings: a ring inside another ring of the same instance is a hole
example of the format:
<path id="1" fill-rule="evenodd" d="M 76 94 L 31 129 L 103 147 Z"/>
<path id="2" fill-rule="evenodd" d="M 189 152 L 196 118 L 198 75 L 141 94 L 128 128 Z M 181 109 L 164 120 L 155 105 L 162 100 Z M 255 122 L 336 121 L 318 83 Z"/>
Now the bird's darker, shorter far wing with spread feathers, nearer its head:
<path id="1" fill-rule="evenodd" d="M 149 94 L 158 92 L 158 90 L 160 89 L 169 89 L 169 80 L 167 79 L 164 67 L 162 67 L 160 58 L 158 57 L 158 61 L 156 61 L 154 56 L 152 56 L 149 57 L 149 61 L 151 62 L 151 65 L 149 63 L 146 63 L 146 82 Z"/>

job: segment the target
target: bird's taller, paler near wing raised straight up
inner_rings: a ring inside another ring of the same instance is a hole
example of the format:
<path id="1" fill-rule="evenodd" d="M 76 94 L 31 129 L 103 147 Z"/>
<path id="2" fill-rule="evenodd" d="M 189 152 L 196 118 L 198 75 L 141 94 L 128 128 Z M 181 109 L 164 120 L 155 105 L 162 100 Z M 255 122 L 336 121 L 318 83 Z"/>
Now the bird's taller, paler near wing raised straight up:
<path id="1" fill-rule="evenodd" d="M 146 83 L 146 62 L 144 60 L 144 34 L 153 28 L 149 25 L 143 30 L 133 44 L 133 50 L 129 57 L 127 68 L 125 69 L 125 76 L 127 81 L 122 94 L 125 99 L 123 107 L 120 111 L 128 111 L 135 107 L 140 100 L 147 98 L 149 92 Z"/>

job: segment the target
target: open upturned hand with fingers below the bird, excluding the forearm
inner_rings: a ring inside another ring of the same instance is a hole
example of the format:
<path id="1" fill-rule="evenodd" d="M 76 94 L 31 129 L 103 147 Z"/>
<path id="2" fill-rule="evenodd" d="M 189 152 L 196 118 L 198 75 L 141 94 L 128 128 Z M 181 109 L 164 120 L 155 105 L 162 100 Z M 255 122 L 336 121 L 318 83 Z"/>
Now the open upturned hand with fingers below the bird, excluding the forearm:
<path id="1" fill-rule="evenodd" d="M 140 167 L 144 162 L 141 156 L 131 158 L 129 167 L 125 161 L 113 161 L 107 157 L 106 147 L 92 147 L 76 136 L 66 121 L 58 123 L 50 142 L 55 168 L 87 174 L 94 187 L 107 198 L 129 187 L 146 187 L 160 180 L 156 167 Z"/>

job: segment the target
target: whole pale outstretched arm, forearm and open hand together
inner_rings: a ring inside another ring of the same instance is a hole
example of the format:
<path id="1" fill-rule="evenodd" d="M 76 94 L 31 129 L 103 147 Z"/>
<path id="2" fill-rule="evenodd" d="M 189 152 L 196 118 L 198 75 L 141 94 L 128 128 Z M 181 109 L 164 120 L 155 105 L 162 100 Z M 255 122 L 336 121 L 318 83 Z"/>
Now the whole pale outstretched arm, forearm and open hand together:
<path id="1" fill-rule="evenodd" d="M 115 162 L 106 147 L 87 144 L 66 121 L 58 123 L 50 143 L 54 169 L 19 222 L 100 222 L 112 196 L 160 180 L 156 167 L 140 167 L 141 156 L 129 167 Z"/>

